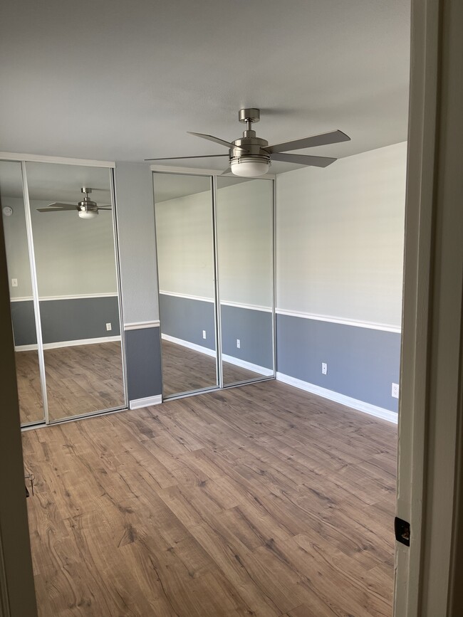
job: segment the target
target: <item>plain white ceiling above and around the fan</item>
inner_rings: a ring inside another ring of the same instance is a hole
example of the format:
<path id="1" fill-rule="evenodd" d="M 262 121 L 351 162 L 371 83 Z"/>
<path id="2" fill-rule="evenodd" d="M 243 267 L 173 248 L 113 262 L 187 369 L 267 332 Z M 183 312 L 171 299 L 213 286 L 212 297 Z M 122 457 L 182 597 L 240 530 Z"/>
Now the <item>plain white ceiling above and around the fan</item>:
<path id="1" fill-rule="evenodd" d="M 407 138 L 409 46 L 410 0 L 5 2 L 1 149 L 226 154 L 186 132 L 236 139 L 239 108 L 259 107 L 270 143 L 340 129 L 351 142 L 299 152 L 348 156 Z"/>

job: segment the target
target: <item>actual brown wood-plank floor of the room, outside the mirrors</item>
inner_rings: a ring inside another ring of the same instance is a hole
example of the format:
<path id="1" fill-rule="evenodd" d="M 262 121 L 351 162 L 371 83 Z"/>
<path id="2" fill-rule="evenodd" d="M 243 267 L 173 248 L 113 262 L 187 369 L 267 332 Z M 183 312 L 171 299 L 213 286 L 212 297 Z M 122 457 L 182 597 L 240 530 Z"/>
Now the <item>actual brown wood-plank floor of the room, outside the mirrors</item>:
<path id="1" fill-rule="evenodd" d="M 41 617 L 392 613 L 390 423 L 267 381 L 23 441 Z"/>

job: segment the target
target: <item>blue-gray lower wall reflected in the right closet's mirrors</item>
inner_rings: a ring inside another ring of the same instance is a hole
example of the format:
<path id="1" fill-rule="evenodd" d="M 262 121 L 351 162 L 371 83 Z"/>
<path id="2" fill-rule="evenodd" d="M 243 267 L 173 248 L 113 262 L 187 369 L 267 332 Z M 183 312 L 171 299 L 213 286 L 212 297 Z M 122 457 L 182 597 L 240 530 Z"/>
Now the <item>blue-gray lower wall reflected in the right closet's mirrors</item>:
<path id="1" fill-rule="evenodd" d="M 222 305 L 222 352 L 233 358 L 273 369 L 271 312 Z M 162 334 L 215 349 L 214 304 L 160 294 Z M 206 330 L 206 339 L 202 331 Z M 236 347 L 239 339 L 241 347 Z"/>

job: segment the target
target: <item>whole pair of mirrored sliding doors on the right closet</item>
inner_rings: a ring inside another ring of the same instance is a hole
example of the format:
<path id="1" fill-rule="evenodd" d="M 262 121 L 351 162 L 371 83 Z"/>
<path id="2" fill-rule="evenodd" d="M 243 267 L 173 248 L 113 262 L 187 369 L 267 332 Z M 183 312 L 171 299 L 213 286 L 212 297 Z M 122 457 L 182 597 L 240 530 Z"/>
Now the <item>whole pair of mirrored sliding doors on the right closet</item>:
<path id="1" fill-rule="evenodd" d="M 164 398 L 274 376 L 273 181 L 153 176 Z"/>

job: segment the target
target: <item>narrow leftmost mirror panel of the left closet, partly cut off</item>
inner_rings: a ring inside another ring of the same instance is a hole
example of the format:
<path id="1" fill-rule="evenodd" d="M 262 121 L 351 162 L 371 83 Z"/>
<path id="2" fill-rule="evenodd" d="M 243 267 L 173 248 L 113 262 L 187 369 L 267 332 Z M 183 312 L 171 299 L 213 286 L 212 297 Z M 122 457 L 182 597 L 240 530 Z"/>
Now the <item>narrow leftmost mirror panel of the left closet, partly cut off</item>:
<path id="1" fill-rule="evenodd" d="M 0 162 L 0 201 L 14 334 L 21 424 L 43 422 L 43 401 L 21 163 Z"/>

